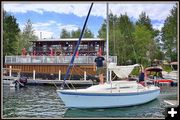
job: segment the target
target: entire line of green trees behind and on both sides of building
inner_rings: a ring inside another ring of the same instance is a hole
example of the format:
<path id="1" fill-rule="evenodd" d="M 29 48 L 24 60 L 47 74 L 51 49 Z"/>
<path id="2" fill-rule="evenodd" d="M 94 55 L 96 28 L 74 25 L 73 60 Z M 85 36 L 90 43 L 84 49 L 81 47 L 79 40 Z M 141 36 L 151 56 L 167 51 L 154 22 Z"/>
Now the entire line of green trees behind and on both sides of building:
<path id="1" fill-rule="evenodd" d="M 71 32 L 62 29 L 60 38 L 79 38 L 80 33 L 80 28 Z M 94 34 L 86 28 L 83 37 L 93 38 Z M 106 20 L 98 37 L 106 39 Z M 19 55 L 24 47 L 30 50 L 30 41 L 37 39 L 30 19 L 21 31 L 16 18 L 3 11 L 3 56 Z M 170 11 L 161 31 L 152 27 L 145 12 L 135 22 L 126 13 L 119 17 L 109 14 L 110 55 L 117 56 L 118 64 L 149 64 L 154 59 L 177 61 L 177 39 L 177 5 Z"/>

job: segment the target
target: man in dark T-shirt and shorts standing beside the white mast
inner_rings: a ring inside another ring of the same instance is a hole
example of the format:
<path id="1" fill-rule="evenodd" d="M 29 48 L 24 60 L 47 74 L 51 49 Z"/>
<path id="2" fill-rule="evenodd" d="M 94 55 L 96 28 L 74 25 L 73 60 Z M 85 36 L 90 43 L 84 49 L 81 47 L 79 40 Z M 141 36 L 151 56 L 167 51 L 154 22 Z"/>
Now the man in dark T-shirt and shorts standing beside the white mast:
<path id="1" fill-rule="evenodd" d="M 101 54 L 99 52 L 97 52 L 97 57 L 95 58 L 94 62 L 94 71 L 96 69 L 96 73 L 99 76 L 99 80 L 100 80 L 100 84 L 104 83 L 104 76 L 103 73 L 105 72 L 104 70 L 104 57 L 101 56 Z"/>

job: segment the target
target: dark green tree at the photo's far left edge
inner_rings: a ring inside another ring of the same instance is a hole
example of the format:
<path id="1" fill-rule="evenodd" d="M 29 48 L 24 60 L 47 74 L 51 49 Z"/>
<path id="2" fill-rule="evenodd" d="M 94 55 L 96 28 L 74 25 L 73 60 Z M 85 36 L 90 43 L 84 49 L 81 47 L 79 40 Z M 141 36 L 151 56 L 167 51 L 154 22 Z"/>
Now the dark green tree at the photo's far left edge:
<path id="1" fill-rule="evenodd" d="M 3 11 L 3 56 L 15 55 L 18 50 L 19 26 L 16 18 Z"/>

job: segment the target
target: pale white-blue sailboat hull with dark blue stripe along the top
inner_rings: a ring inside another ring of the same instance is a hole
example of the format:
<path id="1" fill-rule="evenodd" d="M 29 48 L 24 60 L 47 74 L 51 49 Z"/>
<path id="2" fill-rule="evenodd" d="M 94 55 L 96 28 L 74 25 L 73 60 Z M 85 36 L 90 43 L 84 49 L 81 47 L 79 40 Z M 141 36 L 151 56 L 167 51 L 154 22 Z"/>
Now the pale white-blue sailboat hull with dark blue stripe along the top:
<path id="1" fill-rule="evenodd" d="M 139 105 L 154 100 L 160 89 L 132 93 L 82 93 L 57 90 L 68 108 L 111 108 Z"/>

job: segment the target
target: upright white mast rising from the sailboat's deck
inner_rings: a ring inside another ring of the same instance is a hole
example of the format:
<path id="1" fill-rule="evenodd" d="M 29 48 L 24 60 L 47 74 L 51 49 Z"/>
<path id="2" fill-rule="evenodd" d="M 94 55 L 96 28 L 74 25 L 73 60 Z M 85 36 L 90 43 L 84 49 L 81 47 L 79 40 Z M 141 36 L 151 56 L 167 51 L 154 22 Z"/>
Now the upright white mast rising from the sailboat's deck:
<path id="1" fill-rule="evenodd" d="M 109 5 L 107 2 L 106 8 L 106 82 L 109 81 L 109 71 L 108 71 L 108 64 L 109 64 Z"/>

